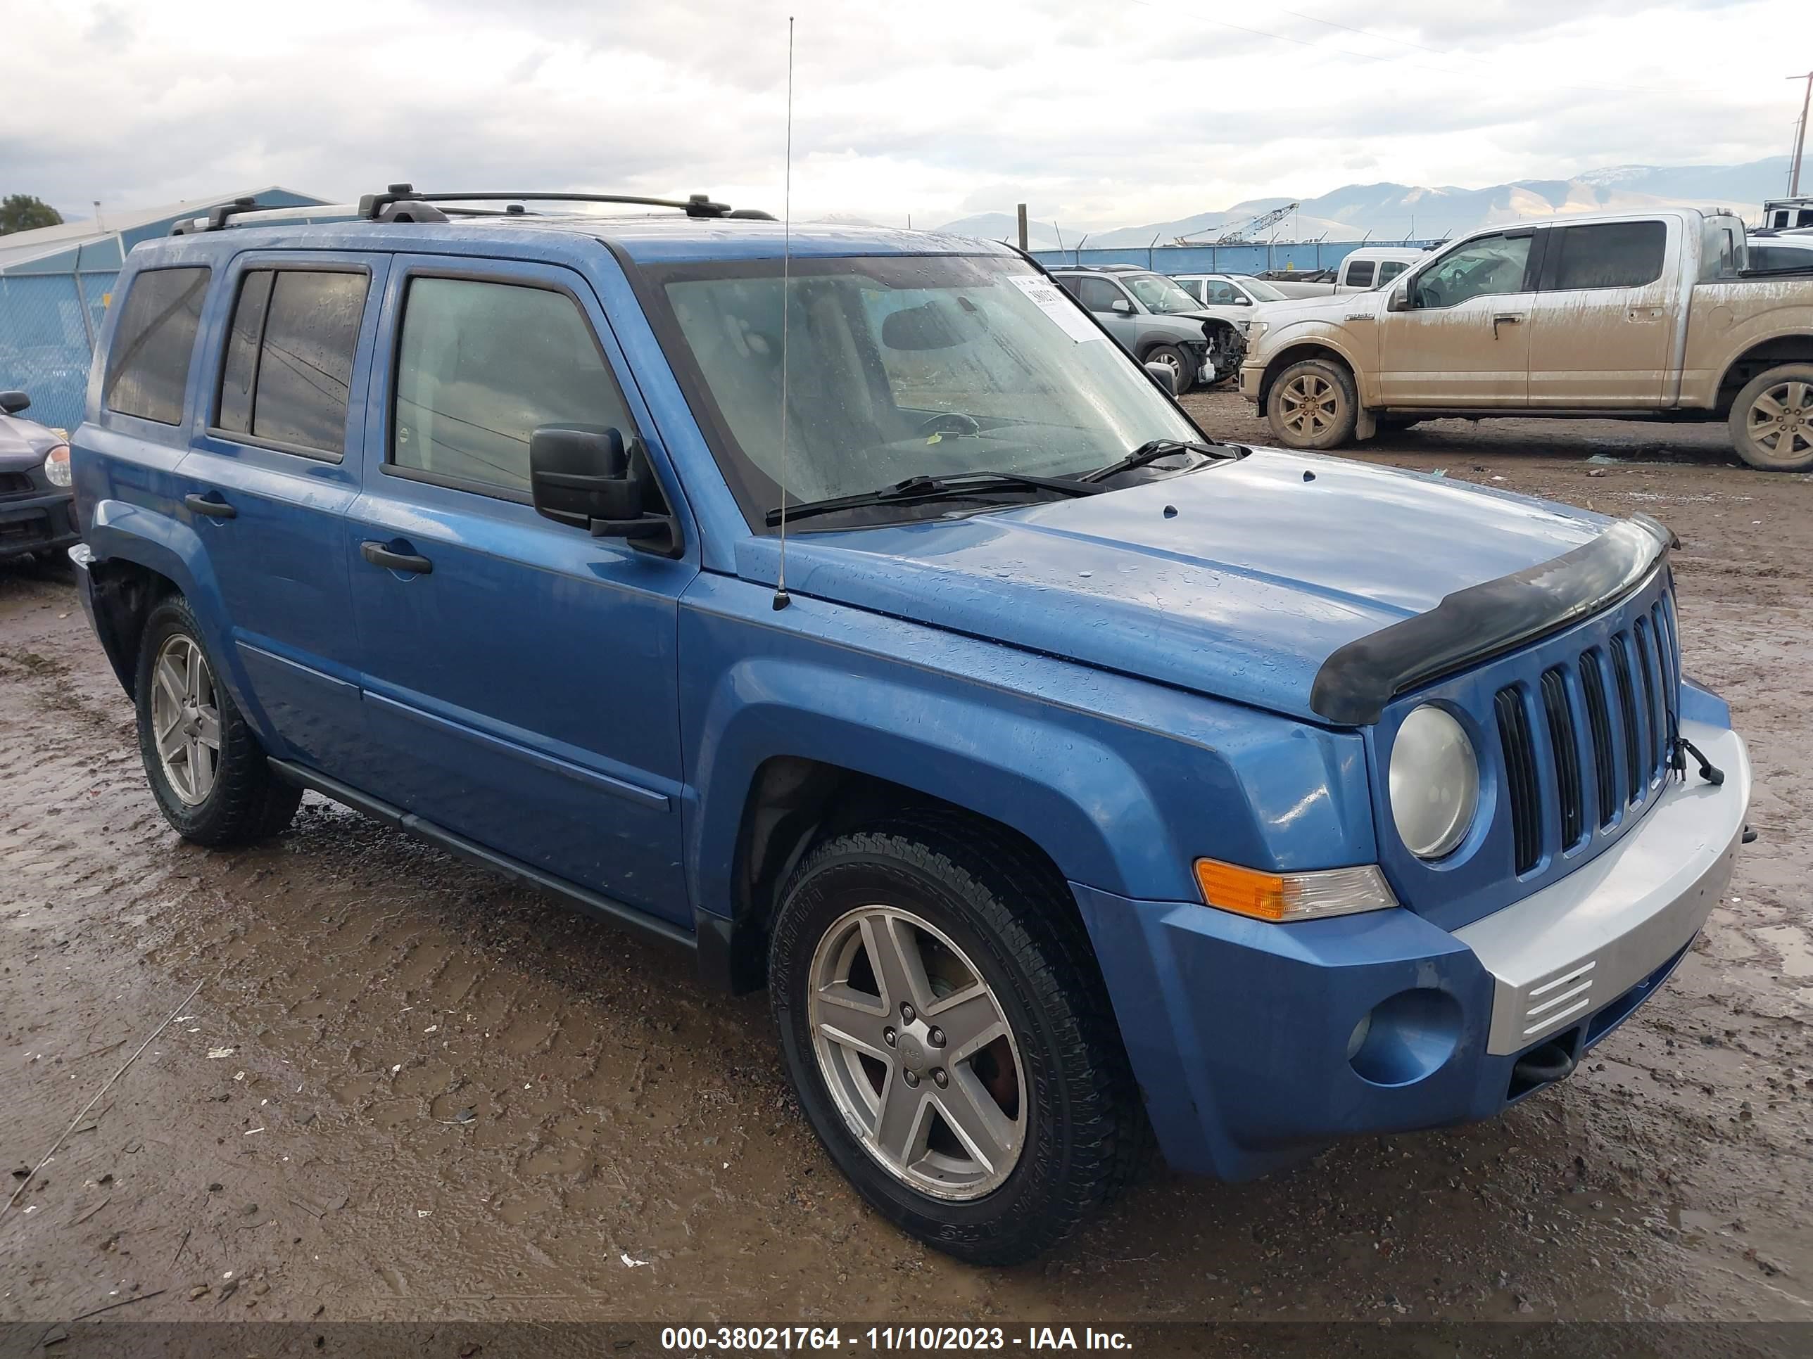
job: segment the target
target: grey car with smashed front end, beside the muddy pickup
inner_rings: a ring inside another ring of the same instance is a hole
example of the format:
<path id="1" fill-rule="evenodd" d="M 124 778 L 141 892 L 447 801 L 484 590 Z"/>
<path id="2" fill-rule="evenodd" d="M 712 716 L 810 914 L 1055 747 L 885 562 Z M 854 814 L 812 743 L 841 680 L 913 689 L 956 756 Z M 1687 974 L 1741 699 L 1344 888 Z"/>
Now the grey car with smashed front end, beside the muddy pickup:
<path id="1" fill-rule="evenodd" d="M 1140 362 L 1171 370 L 1178 391 L 1240 368 L 1240 330 L 1164 274 L 1131 265 L 1055 268 L 1052 277 Z"/>

